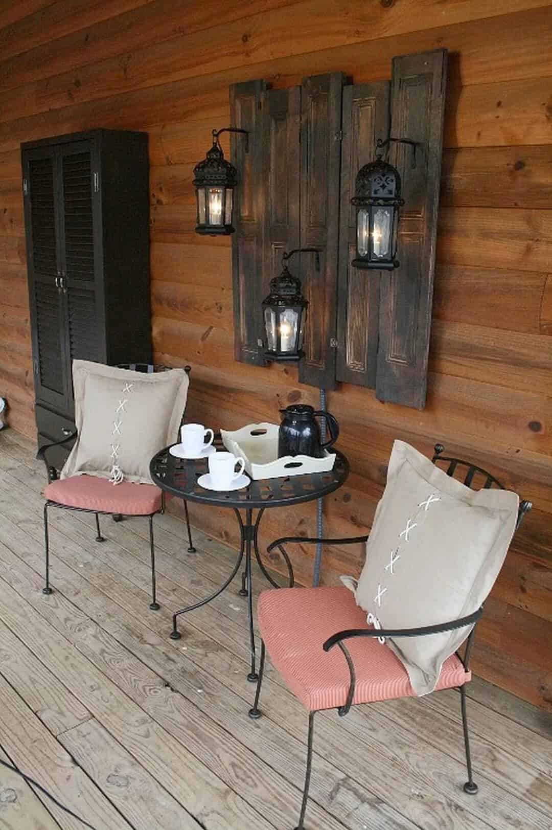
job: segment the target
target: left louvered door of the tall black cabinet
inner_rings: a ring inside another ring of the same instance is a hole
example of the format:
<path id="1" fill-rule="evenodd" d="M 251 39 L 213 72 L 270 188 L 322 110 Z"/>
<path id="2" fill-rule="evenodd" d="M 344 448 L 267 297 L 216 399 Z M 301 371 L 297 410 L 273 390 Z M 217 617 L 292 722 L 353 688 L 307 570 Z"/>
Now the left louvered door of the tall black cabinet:
<path id="1" fill-rule="evenodd" d="M 66 342 L 54 149 L 24 155 L 23 175 L 35 390 L 37 400 L 64 408 Z"/>

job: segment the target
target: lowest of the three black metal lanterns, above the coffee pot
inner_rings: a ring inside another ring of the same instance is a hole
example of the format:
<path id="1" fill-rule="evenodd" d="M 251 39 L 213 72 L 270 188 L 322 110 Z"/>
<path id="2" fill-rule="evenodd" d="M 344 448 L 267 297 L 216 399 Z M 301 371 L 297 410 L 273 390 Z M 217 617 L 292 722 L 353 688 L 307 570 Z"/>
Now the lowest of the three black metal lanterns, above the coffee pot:
<path id="1" fill-rule="evenodd" d="M 316 270 L 320 271 L 316 248 L 296 248 L 282 256 L 282 272 L 271 279 L 271 293 L 262 301 L 265 324 L 267 360 L 300 360 L 303 357 L 303 332 L 308 302 L 301 291 L 300 279 L 290 273 L 287 261 L 299 252 L 316 254 Z"/>

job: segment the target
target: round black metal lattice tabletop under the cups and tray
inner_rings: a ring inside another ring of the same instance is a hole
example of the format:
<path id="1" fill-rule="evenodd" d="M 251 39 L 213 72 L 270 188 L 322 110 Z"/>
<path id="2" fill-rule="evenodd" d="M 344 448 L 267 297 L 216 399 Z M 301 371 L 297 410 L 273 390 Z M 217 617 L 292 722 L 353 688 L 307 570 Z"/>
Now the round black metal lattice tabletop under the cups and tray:
<path id="1" fill-rule="evenodd" d="M 221 449 L 222 443 L 215 442 Z M 152 458 L 149 471 L 161 490 L 189 501 L 233 508 L 266 508 L 296 505 L 325 496 L 340 487 L 349 475 L 349 461 L 339 450 L 335 464 L 328 472 L 302 473 L 300 476 L 282 476 L 251 481 L 242 490 L 212 491 L 198 484 L 199 476 L 208 472 L 208 459 L 194 461 L 175 458 L 165 447 Z"/>

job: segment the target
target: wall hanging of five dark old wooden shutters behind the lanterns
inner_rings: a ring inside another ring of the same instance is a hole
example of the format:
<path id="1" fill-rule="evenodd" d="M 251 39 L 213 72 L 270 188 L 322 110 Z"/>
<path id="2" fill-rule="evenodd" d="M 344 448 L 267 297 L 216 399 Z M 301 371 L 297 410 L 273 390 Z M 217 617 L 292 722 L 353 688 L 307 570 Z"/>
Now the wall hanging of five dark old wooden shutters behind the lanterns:
<path id="1" fill-rule="evenodd" d="M 435 269 L 447 51 L 393 59 L 392 80 L 350 85 L 340 72 L 305 78 L 300 88 L 264 81 L 231 88 L 232 125 L 250 130 L 250 149 L 232 137 L 237 188 L 232 273 L 236 359 L 264 364 L 261 301 L 280 270 L 281 251 L 320 248 L 296 266 L 309 300 L 299 379 L 375 388 L 382 401 L 422 408 Z M 355 211 L 359 168 L 377 139 L 401 175 L 404 206 L 394 271 L 360 271 Z"/>

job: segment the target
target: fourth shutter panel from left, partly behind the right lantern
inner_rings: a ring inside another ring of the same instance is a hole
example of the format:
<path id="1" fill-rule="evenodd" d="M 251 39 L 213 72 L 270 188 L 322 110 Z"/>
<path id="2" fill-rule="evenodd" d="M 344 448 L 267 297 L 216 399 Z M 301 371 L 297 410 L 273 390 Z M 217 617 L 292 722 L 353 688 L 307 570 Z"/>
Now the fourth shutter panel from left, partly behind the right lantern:
<path id="1" fill-rule="evenodd" d="M 374 161 L 377 139 L 388 136 L 389 88 L 388 81 L 380 81 L 343 90 L 337 379 L 369 388 L 376 385 L 381 272 L 351 266 L 356 256 L 351 198 L 359 169 Z"/>

